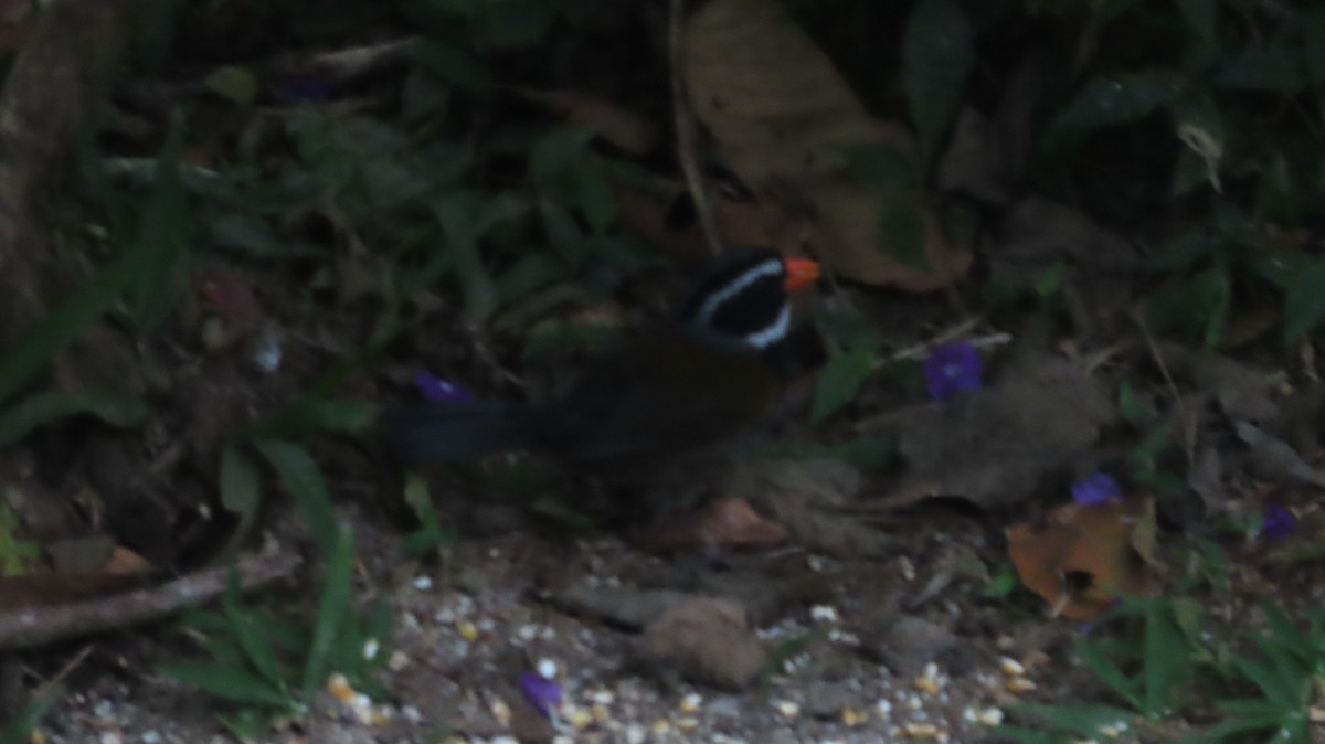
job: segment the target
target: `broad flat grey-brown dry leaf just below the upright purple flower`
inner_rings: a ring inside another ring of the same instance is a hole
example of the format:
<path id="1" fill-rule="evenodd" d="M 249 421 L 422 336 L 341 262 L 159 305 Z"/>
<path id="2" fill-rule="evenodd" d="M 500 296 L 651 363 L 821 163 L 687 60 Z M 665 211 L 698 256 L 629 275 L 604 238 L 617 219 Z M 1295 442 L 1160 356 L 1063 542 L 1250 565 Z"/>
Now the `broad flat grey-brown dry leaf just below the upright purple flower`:
<path id="1" fill-rule="evenodd" d="M 878 425 L 900 437 L 906 473 L 884 507 L 925 496 L 1011 506 L 1090 449 L 1116 417 L 1104 385 L 1061 359 L 1027 360 L 990 388 L 916 405 Z"/>

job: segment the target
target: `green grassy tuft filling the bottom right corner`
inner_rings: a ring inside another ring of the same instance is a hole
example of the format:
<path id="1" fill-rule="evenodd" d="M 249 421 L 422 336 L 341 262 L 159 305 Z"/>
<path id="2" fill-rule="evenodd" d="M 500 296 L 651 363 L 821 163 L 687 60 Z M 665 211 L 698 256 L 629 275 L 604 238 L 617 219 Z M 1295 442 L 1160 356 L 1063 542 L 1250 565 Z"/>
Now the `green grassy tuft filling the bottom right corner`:
<path id="1" fill-rule="evenodd" d="M 1108 703 L 1024 704 L 1019 714 L 1040 729 L 1000 727 L 1026 744 L 1120 736 L 1165 741 L 1288 741 L 1306 744 L 1308 711 L 1325 679 L 1325 612 L 1312 610 L 1306 629 L 1265 602 L 1238 642 L 1208 631 L 1212 621 L 1191 600 L 1129 602 L 1110 620 L 1137 618 L 1140 637 L 1079 639 L 1081 662 L 1124 706 Z M 1195 714 L 1183 718 L 1183 714 Z M 1218 724 L 1192 727 L 1186 720 Z"/>

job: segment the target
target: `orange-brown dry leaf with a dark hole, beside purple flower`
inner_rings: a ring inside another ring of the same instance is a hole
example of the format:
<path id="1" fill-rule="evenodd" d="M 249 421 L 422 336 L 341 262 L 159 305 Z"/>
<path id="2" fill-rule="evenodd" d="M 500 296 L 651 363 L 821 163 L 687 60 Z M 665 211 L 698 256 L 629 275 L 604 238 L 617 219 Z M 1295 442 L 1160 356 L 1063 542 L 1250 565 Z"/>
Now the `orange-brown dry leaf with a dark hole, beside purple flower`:
<path id="1" fill-rule="evenodd" d="M 1149 496 L 1101 506 L 1073 503 L 1049 512 L 1043 527 L 1010 527 L 1007 551 L 1022 582 L 1044 597 L 1055 616 L 1089 620 L 1122 594 L 1154 592 L 1147 565 L 1154 519 Z"/>

